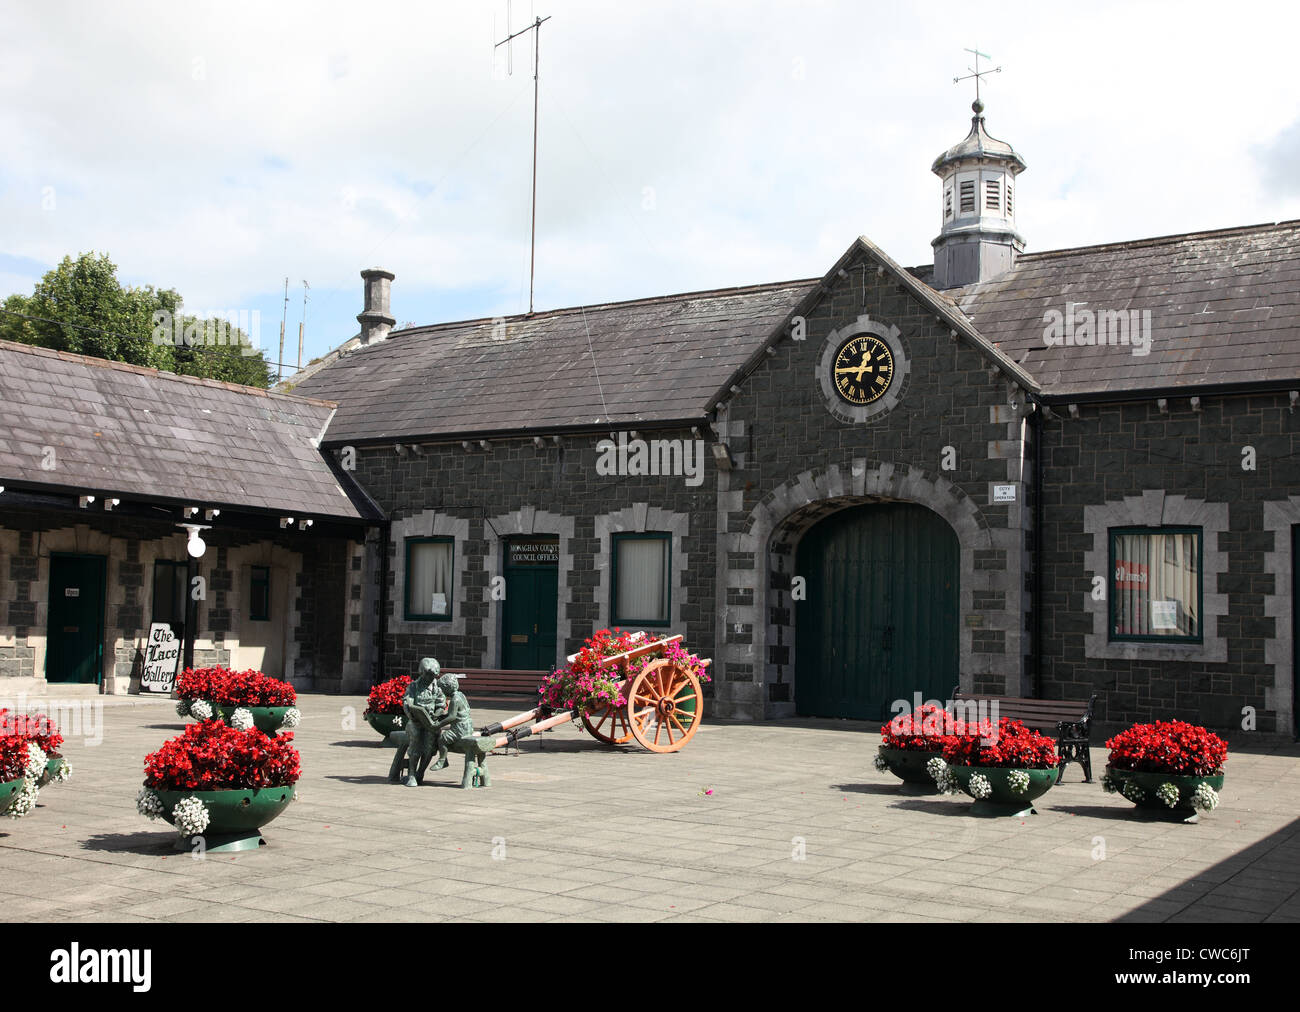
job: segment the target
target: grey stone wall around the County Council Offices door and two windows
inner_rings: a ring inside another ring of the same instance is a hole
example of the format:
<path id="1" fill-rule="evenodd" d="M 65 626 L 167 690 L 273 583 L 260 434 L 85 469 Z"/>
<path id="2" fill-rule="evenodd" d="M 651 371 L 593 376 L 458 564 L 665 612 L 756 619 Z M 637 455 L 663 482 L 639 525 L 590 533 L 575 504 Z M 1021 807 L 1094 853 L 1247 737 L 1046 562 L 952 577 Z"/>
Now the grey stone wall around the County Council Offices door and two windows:
<path id="1" fill-rule="evenodd" d="M 696 438 L 690 431 L 641 436 Z M 559 653 L 573 653 L 608 624 L 608 539 L 633 529 L 628 518 L 634 516 L 647 518 L 645 529 L 660 524 L 673 533 L 671 631 L 685 633 L 697 653 L 712 654 L 716 472 L 706 464 L 696 486 L 682 475 L 602 475 L 597 444 L 606 437 L 564 436 L 541 446 L 532 437 L 494 440 L 486 450 L 477 442 L 469 450 L 459 442 L 425 444 L 400 454 L 393 445 L 356 447 L 355 477 L 393 520 L 384 643 L 389 678 L 411 674 L 428 656 L 445 666 L 500 663 L 502 609 L 490 580 L 502 572 L 500 539 L 517 533 L 560 539 Z M 403 620 L 404 537 L 415 520 L 455 537 L 452 622 Z M 679 559 L 689 565 L 679 567 Z"/>

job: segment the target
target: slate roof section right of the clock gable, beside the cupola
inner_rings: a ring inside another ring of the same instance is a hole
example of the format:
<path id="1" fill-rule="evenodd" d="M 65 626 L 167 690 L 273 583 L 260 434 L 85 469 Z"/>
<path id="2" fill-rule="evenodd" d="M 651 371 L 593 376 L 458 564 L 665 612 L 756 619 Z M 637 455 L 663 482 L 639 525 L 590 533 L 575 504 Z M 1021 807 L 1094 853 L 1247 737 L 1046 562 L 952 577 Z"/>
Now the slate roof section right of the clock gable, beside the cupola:
<path id="1" fill-rule="evenodd" d="M 1052 398 L 1300 380 L 1300 221 L 1024 254 L 944 294 Z M 1150 311 L 1150 353 L 1048 346 L 1067 302 Z"/>

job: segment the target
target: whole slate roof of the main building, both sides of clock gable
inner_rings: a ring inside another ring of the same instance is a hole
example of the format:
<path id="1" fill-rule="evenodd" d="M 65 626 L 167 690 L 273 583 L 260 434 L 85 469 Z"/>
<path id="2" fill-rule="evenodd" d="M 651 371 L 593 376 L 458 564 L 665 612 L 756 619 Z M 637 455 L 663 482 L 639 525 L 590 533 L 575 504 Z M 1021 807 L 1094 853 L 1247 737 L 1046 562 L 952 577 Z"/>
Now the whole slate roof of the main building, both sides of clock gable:
<path id="1" fill-rule="evenodd" d="M 1046 399 L 1300 382 L 1300 221 L 1287 221 L 1023 254 L 998 278 L 946 291 L 930 287 L 932 267 L 901 268 L 861 238 L 822 280 L 508 317 L 504 337 L 485 319 L 372 347 L 352 338 L 292 389 L 338 402 L 326 445 L 702 421 L 859 251 Z M 1067 302 L 1149 311 L 1150 353 L 1049 347 L 1044 313 Z"/>

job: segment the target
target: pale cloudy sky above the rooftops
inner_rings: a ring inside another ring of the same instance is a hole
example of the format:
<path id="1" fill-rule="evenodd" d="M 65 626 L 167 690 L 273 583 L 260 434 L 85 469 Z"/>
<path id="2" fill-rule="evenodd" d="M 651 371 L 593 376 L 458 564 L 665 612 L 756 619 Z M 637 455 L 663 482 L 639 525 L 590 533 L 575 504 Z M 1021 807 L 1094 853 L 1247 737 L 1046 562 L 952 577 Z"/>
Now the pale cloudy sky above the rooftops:
<path id="1" fill-rule="evenodd" d="M 538 311 L 930 263 L 967 48 L 1030 251 L 1300 217 L 1295 4 L 0 0 L 0 298 L 107 252 L 273 359 L 285 312 L 286 373 L 363 268 L 399 326 L 525 312 L 536 16 Z"/>

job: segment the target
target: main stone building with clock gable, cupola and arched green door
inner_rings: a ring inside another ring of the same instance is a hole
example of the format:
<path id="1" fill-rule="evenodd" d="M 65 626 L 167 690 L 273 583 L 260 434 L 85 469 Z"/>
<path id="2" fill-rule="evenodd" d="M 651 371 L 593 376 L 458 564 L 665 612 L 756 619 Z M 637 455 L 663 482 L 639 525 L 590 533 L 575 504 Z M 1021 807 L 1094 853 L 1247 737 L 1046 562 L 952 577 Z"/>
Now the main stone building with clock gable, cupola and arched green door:
<path id="1" fill-rule="evenodd" d="M 363 272 L 283 399 L 333 412 L 355 510 L 312 535 L 346 584 L 300 557 L 313 684 L 623 626 L 685 633 L 733 718 L 959 684 L 1294 734 L 1300 222 L 1026 252 L 1024 169 L 976 105 L 924 267 L 858 238 L 816 278 L 400 330 Z"/>

